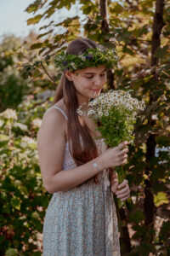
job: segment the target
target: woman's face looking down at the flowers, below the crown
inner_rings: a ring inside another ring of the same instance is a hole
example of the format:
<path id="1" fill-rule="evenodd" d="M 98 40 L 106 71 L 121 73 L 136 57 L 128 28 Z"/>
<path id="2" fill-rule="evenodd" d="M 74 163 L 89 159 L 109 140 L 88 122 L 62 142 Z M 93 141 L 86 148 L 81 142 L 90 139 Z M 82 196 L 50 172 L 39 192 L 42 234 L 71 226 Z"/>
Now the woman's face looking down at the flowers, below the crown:
<path id="1" fill-rule="evenodd" d="M 106 81 L 106 68 L 105 65 L 86 67 L 75 72 L 66 71 L 65 75 L 67 79 L 73 81 L 81 105 L 83 102 L 88 102 L 89 98 L 99 96 Z"/>

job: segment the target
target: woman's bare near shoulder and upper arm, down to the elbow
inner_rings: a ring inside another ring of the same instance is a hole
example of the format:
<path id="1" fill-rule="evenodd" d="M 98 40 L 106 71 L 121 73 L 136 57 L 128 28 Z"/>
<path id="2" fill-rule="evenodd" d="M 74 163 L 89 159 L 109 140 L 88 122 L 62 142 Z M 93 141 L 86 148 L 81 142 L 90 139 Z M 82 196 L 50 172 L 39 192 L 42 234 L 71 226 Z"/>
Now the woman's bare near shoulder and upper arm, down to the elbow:
<path id="1" fill-rule="evenodd" d="M 49 108 L 43 114 L 42 125 L 37 133 L 39 164 L 46 189 L 54 175 L 63 168 L 66 123 L 63 113 Z"/>

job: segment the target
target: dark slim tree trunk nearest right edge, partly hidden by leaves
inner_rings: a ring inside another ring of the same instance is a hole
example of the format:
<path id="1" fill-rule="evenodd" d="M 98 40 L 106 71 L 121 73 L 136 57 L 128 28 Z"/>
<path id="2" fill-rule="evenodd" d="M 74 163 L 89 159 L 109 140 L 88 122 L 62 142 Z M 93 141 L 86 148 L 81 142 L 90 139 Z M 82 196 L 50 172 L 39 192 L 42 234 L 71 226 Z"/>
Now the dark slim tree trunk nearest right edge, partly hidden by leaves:
<path id="1" fill-rule="evenodd" d="M 152 34 L 152 41 L 151 41 L 151 67 L 156 67 L 158 65 L 158 58 L 155 56 L 156 49 L 160 47 L 161 45 L 161 29 L 164 26 L 163 22 L 163 6 L 164 6 L 164 0 L 156 0 L 156 12 L 154 15 L 154 22 L 153 22 L 153 34 Z M 154 70 L 154 69 L 153 69 Z M 155 75 L 153 71 L 153 75 Z M 157 84 L 156 75 L 153 78 L 153 83 Z M 151 95 L 150 92 L 150 105 L 154 102 L 154 97 Z M 152 117 L 150 116 L 150 119 L 148 120 L 148 125 L 154 126 L 155 121 L 152 120 Z M 155 151 L 156 151 L 156 135 L 150 134 L 147 142 L 146 142 L 146 164 L 147 166 L 150 166 L 150 160 L 155 157 Z M 153 194 L 151 192 L 151 183 L 150 183 L 150 172 L 152 171 L 150 167 L 150 170 L 148 167 L 145 169 L 145 174 L 148 176 L 148 179 L 145 179 L 144 184 L 144 216 L 145 216 L 145 222 L 144 224 L 146 226 L 154 227 L 154 213 L 155 213 L 155 205 L 154 205 L 154 198 Z M 150 237 L 150 240 L 153 241 L 154 237 Z M 151 242 L 150 241 L 150 242 Z"/>

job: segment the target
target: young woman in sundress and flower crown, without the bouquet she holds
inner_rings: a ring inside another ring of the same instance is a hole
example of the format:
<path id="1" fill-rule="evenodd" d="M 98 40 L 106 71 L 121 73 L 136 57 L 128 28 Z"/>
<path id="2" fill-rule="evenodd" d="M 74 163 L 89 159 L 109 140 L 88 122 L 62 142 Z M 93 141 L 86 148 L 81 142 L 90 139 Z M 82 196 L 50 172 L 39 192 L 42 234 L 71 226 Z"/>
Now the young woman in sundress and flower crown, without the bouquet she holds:
<path id="1" fill-rule="evenodd" d="M 88 49 L 95 49 L 95 56 L 84 55 Z M 87 38 L 69 44 L 65 56 L 60 56 L 65 69 L 54 105 L 44 113 L 38 131 L 42 180 L 53 194 L 43 225 L 43 256 L 120 255 L 112 192 L 125 201 L 130 190 L 127 180 L 118 185 L 108 168 L 126 162 L 127 143 L 107 149 L 103 139 L 96 139 L 99 131 L 94 131 L 92 119 L 77 113 L 83 102 L 99 96 L 105 84 L 109 58 L 105 54 L 101 60 L 98 51 Z"/>

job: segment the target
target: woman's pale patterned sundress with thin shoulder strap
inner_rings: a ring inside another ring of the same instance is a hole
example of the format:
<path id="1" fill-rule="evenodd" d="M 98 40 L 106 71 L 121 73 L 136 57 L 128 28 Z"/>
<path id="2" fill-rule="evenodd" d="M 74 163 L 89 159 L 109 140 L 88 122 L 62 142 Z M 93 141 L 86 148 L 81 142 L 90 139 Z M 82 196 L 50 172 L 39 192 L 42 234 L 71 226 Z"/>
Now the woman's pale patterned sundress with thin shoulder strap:
<path id="1" fill-rule="evenodd" d="M 51 108 L 65 115 L 62 109 Z M 95 143 L 99 154 L 105 151 L 103 139 Z M 63 170 L 76 166 L 66 143 Z M 90 178 L 52 195 L 43 224 L 43 256 L 121 255 L 116 208 L 111 187 L 106 186 L 108 175 L 108 170 L 99 172 L 99 184 Z"/>

